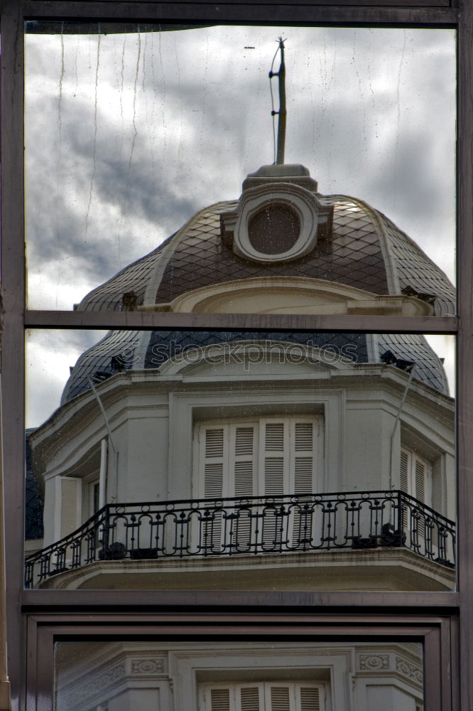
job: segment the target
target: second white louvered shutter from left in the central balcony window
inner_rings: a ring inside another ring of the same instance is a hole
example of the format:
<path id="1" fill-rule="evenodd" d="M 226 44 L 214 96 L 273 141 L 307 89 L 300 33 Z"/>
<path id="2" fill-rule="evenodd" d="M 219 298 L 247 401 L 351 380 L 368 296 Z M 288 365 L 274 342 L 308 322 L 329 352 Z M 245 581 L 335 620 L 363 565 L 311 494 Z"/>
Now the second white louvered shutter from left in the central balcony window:
<path id="1" fill-rule="evenodd" d="M 256 426 L 254 424 L 232 425 L 229 477 L 233 481 L 232 496 L 254 496 L 256 474 Z M 255 523 L 254 523 L 255 522 Z M 256 519 L 251 506 L 236 506 L 229 536 L 232 548 L 237 552 L 250 552 L 256 530 Z"/>

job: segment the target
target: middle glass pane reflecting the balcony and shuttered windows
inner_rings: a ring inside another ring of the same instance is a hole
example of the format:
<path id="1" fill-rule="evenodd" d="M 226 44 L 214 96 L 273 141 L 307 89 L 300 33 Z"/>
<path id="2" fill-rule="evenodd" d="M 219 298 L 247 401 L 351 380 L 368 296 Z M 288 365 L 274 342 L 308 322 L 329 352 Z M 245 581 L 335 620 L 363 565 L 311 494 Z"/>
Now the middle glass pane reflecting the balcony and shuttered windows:
<path id="1" fill-rule="evenodd" d="M 98 336 L 27 341 L 27 587 L 454 587 L 451 336 Z"/>

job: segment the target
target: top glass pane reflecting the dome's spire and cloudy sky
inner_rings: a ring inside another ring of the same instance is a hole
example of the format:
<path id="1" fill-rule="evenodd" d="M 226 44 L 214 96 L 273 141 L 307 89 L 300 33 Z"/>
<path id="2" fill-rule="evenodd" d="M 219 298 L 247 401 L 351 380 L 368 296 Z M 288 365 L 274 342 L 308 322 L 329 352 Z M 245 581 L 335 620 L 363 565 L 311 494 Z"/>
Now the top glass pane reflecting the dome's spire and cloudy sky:
<path id="1" fill-rule="evenodd" d="M 31 308 L 455 313 L 454 31 L 27 27 Z"/>

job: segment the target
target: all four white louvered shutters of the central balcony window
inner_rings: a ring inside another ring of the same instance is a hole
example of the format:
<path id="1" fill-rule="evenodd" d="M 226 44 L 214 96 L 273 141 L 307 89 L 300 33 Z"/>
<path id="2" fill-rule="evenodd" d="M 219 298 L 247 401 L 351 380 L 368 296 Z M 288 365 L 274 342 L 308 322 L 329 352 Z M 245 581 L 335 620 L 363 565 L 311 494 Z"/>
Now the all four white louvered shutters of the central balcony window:
<path id="1" fill-rule="evenodd" d="M 243 500 L 231 516 L 212 508 L 212 516 L 202 519 L 202 552 L 310 547 L 315 526 L 312 508 L 303 501 L 288 505 L 281 497 L 317 491 L 315 474 L 322 456 L 319 429 L 317 417 L 261 418 L 200 427 L 198 496 Z M 244 501 L 251 496 L 266 501 L 255 508 Z"/>

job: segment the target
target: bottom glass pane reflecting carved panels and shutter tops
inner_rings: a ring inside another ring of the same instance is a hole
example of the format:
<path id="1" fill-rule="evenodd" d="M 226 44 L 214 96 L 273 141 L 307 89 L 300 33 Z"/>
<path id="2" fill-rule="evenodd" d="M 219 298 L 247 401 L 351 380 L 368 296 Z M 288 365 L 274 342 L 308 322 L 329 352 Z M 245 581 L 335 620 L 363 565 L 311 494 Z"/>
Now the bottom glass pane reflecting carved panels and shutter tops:
<path id="1" fill-rule="evenodd" d="M 422 711 L 423 697 L 420 643 L 55 644 L 55 711 Z"/>

